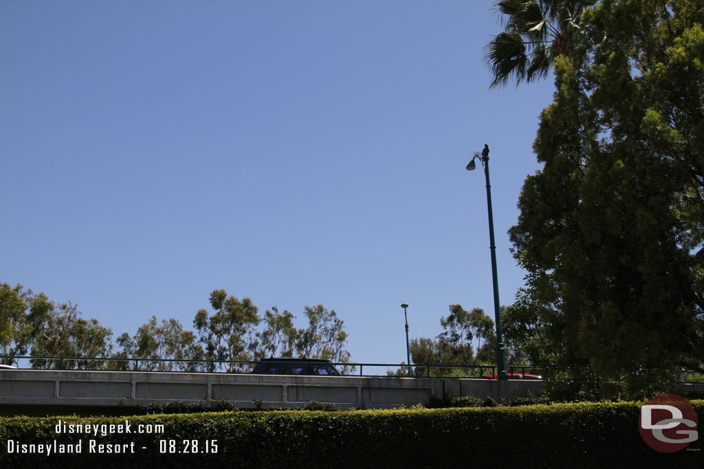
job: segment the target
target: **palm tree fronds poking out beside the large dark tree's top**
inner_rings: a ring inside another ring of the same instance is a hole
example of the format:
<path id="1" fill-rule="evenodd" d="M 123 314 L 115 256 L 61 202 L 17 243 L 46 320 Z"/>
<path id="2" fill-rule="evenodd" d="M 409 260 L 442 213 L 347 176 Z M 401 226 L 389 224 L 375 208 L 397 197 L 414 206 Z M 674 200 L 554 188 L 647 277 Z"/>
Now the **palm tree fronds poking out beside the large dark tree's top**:
<path id="1" fill-rule="evenodd" d="M 598 0 L 498 0 L 506 15 L 504 31 L 484 46 L 484 61 L 494 74 L 489 88 L 546 77 L 558 56 L 570 56 L 579 40 L 579 20 Z"/>

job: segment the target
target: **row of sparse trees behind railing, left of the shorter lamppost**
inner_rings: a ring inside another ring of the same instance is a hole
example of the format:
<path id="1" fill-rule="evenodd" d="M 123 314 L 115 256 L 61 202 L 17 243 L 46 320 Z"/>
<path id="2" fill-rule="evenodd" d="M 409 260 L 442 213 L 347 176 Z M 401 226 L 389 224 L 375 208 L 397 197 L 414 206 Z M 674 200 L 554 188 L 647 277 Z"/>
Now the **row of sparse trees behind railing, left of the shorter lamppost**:
<path id="1" fill-rule="evenodd" d="M 32 368 L 249 371 L 250 365 L 237 362 L 265 356 L 349 362 L 344 321 L 322 304 L 305 307 L 305 328 L 296 329 L 295 316 L 289 311 L 279 313 L 277 307 L 265 312 L 259 328 L 262 318 L 249 298 L 238 300 L 225 290 L 213 290 L 209 300 L 214 312 L 196 313 L 197 334 L 177 319 L 160 321 L 151 316 L 134 335 L 122 333 L 113 344 L 112 331 L 96 319 L 82 319 L 77 305 L 57 304 L 44 293 L 35 295 L 22 285 L 11 288 L 0 283 L 0 355 L 7 357 L 1 363 L 18 364 L 15 357 L 31 355 Z M 352 369 L 343 366 L 341 371 Z"/>

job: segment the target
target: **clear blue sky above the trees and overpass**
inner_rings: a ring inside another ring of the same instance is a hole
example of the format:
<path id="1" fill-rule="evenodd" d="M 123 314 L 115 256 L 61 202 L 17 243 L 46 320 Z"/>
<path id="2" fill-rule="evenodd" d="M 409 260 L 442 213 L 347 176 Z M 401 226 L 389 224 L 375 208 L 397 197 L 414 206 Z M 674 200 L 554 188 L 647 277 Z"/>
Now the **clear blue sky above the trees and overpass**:
<path id="1" fill-rule="evenodd" d="M 0 281 L 134 334 L 216 288 L 322 303 L 353 361 L 523 284 L 506 231 L 552 79 L 489 91 L 491 1 L 0 3 Z"/>

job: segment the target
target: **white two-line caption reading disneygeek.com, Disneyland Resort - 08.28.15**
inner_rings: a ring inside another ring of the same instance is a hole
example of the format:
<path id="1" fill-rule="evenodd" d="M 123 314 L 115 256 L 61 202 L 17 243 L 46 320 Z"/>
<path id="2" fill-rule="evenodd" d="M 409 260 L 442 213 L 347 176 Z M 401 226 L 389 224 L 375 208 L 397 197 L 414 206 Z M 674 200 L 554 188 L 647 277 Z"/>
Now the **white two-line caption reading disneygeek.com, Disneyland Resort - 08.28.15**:
<path id="1" fill-rule="evenodd" d="M 106 443 L 99 437 L 115 434 L 156 434 L 163 435 L 164 425 L 125 423 L 78 423 L 59 420 L 54 428 L 57 435 L 77 435 L 85 438 L 73 442 L 58 442 L 50 439 L 41 443 L 25 443 L 17 439 L 8 439 L 6 454 L 134 454 L 139 451 L 158 451 L 161 454 L 215 454 L 218 452 L 217 439 L 158 439 L 151 444 L 134 444 L 134 442 Z"/>

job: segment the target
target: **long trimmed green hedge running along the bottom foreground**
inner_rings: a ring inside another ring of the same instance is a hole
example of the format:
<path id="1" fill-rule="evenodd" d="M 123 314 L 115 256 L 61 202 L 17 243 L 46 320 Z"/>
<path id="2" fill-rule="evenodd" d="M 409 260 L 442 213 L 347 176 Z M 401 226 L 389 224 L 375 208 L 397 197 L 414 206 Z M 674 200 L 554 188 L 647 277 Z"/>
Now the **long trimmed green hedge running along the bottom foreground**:
<path id="1" fill-rule="evenodd" d="M 702 421 L 704 401 L 692 401 Z M 0 467 L 62 468 L 702 468 L 703 451 L 660 454 L 639 434 L 638 403 L 579 403 L 392 411 L 263 411 L 134 417 L 0 418 Z M 59 420 L 119 425 L 106 437 L 55 432 Z M 137 425 L 163 424 L 163 435 Z M 75 444 L 82 454 L 8 454 L 20 444 Z M 89 454 L 99 444 L 130 444 L 135 454 Z M 217 454 L 169 454 L 168 442 L 217 440 Z M 160 453 L 160 440 L 167 452 Z M 162 443 L 163 444 L 163 443 Z M 146 446 L 146 449 L 142 449 Z M 689 449 L 700 449 L 702 439 Z"/>

